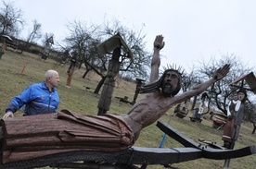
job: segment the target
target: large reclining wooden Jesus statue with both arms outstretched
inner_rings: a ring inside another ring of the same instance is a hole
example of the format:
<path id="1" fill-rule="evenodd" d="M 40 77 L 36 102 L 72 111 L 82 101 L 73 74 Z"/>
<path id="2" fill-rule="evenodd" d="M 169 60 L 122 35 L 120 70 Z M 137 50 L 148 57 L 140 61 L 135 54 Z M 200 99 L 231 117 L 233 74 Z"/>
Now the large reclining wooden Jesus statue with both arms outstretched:
<path id="1" fill-rule="evenodd" d="M 208 81 L 176 95 L 182 84 L 178 70 L 168 69 L 159 78 L 163 36 L 154 41 L 149 84 L 138 89 L 147 93 L 126 115 L 33 115 L 1 120 L 2 162 L 15 162 L 67 151 L 121 151 L 134 145 L 140 131 L 164 115 L 173 105 L 205 91 L 224 78 L 230 66 L 218 68 Z"/>

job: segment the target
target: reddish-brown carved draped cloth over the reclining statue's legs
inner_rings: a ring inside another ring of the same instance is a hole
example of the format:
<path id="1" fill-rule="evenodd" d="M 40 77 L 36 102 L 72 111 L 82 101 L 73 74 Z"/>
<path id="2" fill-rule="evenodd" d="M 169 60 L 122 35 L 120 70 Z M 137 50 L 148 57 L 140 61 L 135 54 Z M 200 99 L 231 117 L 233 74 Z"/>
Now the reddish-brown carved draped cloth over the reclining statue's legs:
<path id="1" fill-rule="evenodd" d="M 2 163 L 68 151 L 121 151 L 134 144 L 134 134 L 115 115 L 31 115 L 1 120 Z"/>

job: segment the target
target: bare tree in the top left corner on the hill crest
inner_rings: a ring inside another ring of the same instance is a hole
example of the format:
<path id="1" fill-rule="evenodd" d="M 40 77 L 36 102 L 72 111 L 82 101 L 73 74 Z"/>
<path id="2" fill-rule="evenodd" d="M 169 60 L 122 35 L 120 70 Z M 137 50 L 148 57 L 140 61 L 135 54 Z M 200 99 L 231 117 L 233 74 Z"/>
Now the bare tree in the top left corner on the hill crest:
<path id="1" fill-rule="evenodd" d="M 1 34 L 14 35 L 19 32 L 19 27 L 23 27 L 25 21 L 22 12 L 13 3 L 3 1 L 4 7 L 0 9 L 0 29 Z"/>

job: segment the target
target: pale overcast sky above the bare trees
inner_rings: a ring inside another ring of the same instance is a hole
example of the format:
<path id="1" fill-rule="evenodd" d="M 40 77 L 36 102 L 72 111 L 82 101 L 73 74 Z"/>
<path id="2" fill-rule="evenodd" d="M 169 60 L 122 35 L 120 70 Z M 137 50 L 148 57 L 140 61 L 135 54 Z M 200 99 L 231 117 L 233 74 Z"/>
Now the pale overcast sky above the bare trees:
<path id="1" fill-rule="evenodd" d="M 74 20 L 102 23 L 117 18 L 129 28 L 142 28 L 147 49 L 157 34 L 166 43 L 162 65 L 176 64 L 186 70 L 198 61 L 236 54 L 244 64 L 255 66 L 255 0 L 7 0 L 23 11 L 31 24 L 37 19 L 42 32 L 60 41 Z M 28 26 L 27 26 L 28 27 Z M 24 30 L 28 34 L 28 30 Z"/>

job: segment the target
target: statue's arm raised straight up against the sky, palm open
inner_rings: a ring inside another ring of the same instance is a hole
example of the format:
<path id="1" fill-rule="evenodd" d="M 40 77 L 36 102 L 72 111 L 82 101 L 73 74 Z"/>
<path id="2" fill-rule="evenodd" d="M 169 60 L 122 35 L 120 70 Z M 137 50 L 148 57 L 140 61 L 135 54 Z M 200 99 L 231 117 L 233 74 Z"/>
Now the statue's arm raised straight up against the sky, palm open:
<path id="1" fill-rule="evenodd" d="M 164 47 L 163 36 L 157 35 L 154 41 L 154 54 L 151 60 L 151 74 L 149 83 L 153 83 L 159 78 L 160 50 Z"/>

